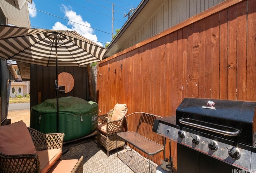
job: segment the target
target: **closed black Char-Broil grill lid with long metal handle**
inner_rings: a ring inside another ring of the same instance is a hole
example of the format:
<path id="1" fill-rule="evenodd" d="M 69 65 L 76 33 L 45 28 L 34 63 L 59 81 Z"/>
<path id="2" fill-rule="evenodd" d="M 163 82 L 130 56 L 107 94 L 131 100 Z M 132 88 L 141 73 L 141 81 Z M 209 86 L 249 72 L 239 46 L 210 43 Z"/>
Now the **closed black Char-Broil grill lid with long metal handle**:
<path id="1" fill-rule="evenodd" d="M 255 146 L 255 108 L 255 102 L 185 98 L 176 109 L 176 124 Z"/>

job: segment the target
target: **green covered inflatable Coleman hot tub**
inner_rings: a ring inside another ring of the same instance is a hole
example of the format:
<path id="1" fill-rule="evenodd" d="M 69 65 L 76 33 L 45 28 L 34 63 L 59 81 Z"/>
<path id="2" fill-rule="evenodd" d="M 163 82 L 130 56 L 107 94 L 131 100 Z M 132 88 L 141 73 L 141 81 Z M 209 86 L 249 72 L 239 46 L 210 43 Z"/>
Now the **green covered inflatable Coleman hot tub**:
<path id="1" fill-rule="evenodd" d="M 64 142 L 92 133 L 97 128 L 98 104 L 78 97 L 59 98 L 59 132 Z M 56 99 L 37 104 L 30 111 L 30 127 L 42 133 L 57 133 Z"/>

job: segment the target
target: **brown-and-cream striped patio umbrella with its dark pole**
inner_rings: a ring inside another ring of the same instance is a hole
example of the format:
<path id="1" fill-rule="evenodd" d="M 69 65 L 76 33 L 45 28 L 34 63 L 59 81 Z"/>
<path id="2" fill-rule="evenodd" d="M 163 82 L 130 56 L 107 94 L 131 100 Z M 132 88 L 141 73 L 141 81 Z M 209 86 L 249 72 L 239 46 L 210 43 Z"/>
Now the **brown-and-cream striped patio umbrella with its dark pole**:
<path id="1" fill-rule="evenodd" d="M 58 65 L 85 67 L 101 61 L 106 49 L 75 31 L 0 25 L 0 58 L 56 66 L 57 129 L 59 132 Z"/>

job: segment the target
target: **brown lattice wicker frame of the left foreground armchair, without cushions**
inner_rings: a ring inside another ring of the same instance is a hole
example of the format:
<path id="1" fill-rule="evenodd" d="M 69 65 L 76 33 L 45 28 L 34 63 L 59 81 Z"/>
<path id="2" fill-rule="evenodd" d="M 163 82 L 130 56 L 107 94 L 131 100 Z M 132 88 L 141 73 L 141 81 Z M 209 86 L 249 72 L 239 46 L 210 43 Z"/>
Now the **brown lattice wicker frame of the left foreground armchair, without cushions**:
<path id="1" fill-rule="evenodd" d="M 62 149 L 64 133 L 43 134 L 29 127 L 28 130 L 37 151 Z M 1 173 L 40 173 L 40 162 L 37 154 L 5 155 L 0 153 L 0 167 Z"/>

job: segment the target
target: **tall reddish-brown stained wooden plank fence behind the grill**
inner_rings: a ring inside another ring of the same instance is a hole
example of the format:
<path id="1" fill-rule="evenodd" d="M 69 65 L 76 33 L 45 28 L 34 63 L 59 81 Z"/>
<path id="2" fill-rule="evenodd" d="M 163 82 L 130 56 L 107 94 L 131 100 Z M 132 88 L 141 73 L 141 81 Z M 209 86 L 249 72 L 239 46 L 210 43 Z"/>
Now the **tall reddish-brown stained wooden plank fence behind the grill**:
<path id="1" fill-rule="evenodd" d="M 102 61 L 100 114 L 127 103 L 128 114 L 173 116 L 185 97 L 256 101 L 255 19 L 255 0 L 226 0 Z"/>

